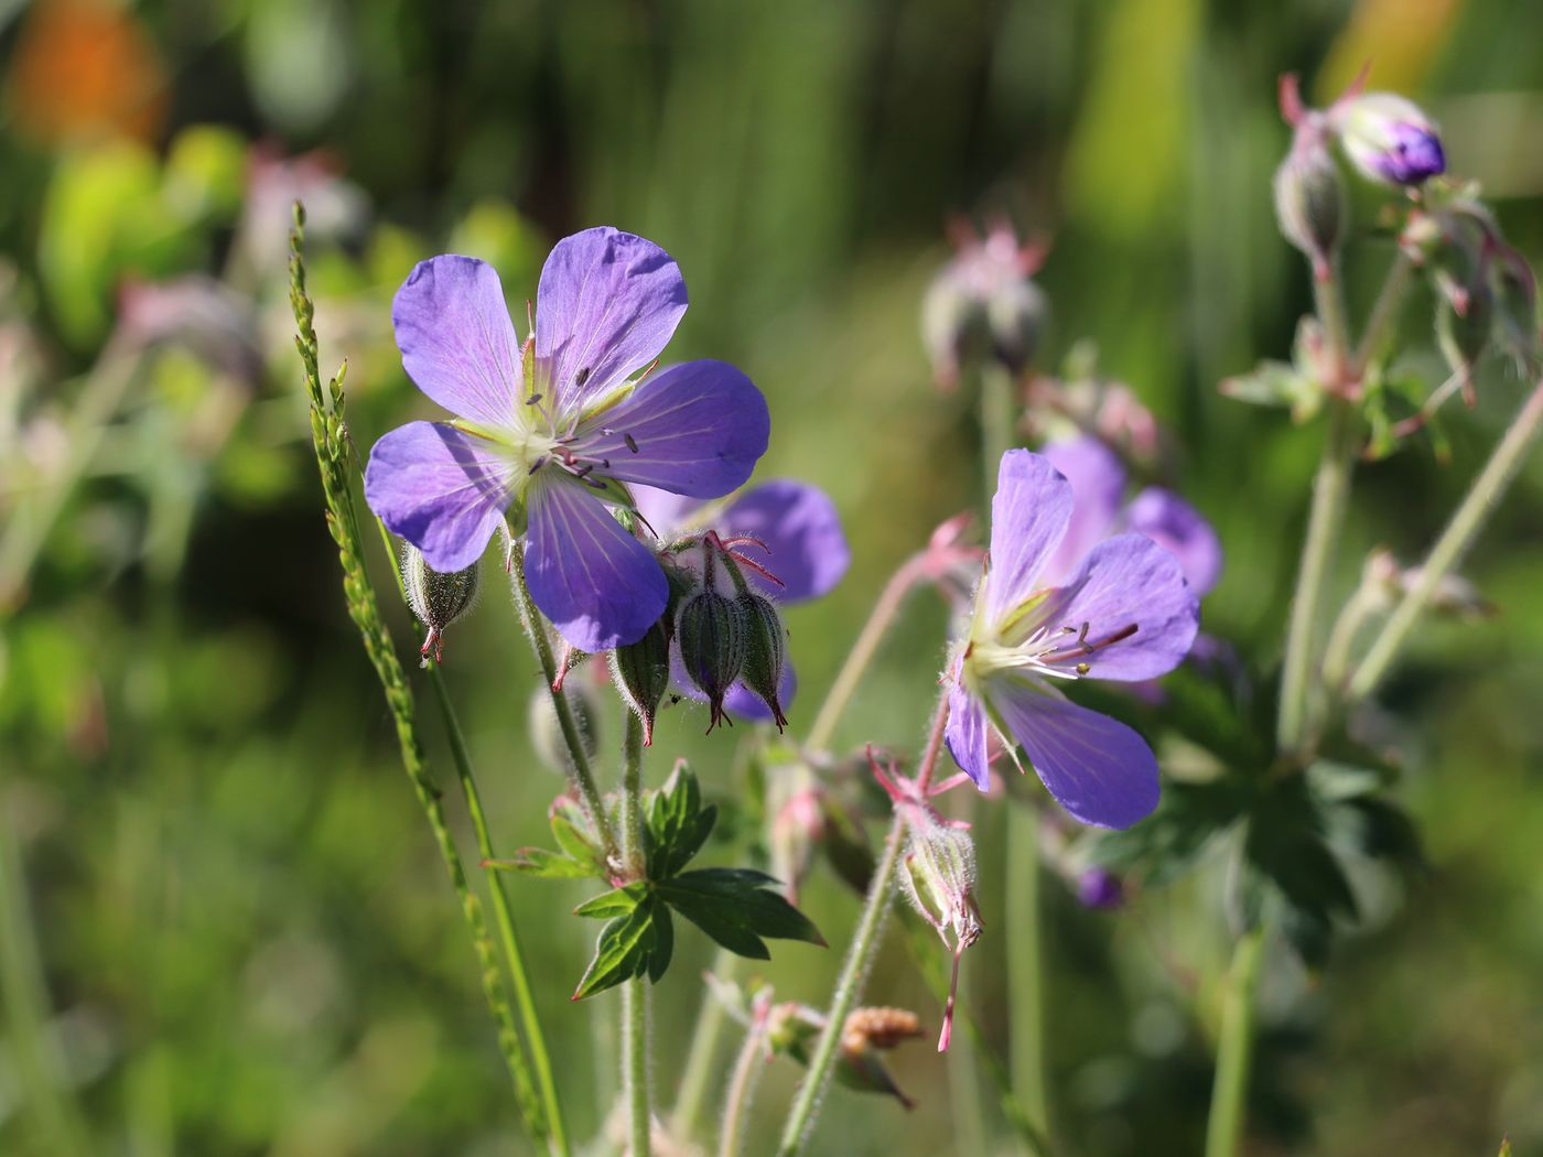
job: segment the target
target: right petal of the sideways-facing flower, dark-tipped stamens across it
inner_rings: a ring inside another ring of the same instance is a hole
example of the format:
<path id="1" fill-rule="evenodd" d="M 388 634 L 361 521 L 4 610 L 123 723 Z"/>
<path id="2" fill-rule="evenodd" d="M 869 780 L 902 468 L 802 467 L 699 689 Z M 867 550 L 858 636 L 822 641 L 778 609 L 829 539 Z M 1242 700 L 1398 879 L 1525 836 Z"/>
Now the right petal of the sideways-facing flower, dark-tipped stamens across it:
<path id="1" fill-rule="evenodd" d="M 1120 534 L 1088 552 L 1045 608 L 1045 622 L 1080 631 L 1092 646 L 1131 626 L 1129 637 L 1079 656 L 1094 679 L 1156 679 L 1190 653 L 1200 609 L 1179 560 L 1151 538 Z M 1066 646 L 1075 646 L 1068 636 Z M 1068 660 L 1069 662 L 1069 660 Z"/>

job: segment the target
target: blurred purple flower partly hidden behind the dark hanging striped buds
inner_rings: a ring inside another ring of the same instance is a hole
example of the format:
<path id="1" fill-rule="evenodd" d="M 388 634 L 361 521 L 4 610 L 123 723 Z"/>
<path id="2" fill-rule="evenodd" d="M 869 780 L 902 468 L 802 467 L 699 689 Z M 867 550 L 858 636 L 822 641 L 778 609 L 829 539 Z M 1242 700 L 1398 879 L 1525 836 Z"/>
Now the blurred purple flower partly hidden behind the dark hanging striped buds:
<path id="1" fill-rule="evenodd" d="M 836 506 L 818 486 L 773 478 L 751 486 L 727 504 L 704 504 L 650 486 L 634 487 L 633 497 L 639 514 L 662 543 L 707 531 L 738 541 L 736 552 L 744 552 L 745 558 L 765 568 L 765 574 L 758 572 L 756 566 L 744 568 L 745 580 L 784 606 L 830 592 L 852 562 Z M 691 555 L 682 555 L 680 562 L 690 565 Z M 776 575 L 776 580 L 767 574 Z M 676 688 L 705 702 L 707 696 L 685 676 L 679 659 L 674 666 Z M 788 663 L 778 690 L 782 707 L 793 700 L 796 686 L 798 680 Z M 772 719 L 770 708 L 744 680 L 730 686 L 724 707 L 747 719 Z"/>

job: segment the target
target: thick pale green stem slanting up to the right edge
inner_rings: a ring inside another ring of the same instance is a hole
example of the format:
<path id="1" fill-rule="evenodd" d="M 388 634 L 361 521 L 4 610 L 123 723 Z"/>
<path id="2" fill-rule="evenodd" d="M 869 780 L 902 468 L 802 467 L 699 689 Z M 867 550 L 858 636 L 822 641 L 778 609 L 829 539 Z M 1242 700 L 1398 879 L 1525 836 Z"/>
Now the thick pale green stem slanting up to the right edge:
<path id="1" fill-rule="evenodd" d="M 1446 529 L 1441 531 L 1441 537 L 1437 538 L 1435 546 L 1430 548 L 1424 566 L 1420 568 L 1420 582 L 1393 608 L 1393 614 L 1389 616 L 1381 632 L 1372 640 L 1366 659 L 1361 660 L 1361 665 L 1350 676 L 1350 699 L 1364 699 L 1372 694 L 1383 680 L 1383 676 L 1387 674 L 1387 668 L 1409 640 L 1420 612 L 1430 602 L 1437 586 L 1463 560 L 1463 555 L 1467 554 L 1467 549 L 1474 545 L 1478 532 L 1494 512 L 1495 504 L 1517 477 L 1517 471 L 1521 469 L 1521 463 L 1526 461 L 1528 450 L 1538 435 L 1540 424 L 1543 424 L 1543 381 L 1538 381 L 1532 387 L 1532 393 L 1521 404 L 1521 410 L 1517 413 L 1515 421 L 1511 423 L 1511 429 L 1506 430 L 1504 437 L 1495 446 L 1489 461 L 1484 463 L 1484 469 L 1474 480 L 1472 487 L 1469 487 L 1463 503 L 1452 514 L 1452 520 L 1446 525 Z"/>

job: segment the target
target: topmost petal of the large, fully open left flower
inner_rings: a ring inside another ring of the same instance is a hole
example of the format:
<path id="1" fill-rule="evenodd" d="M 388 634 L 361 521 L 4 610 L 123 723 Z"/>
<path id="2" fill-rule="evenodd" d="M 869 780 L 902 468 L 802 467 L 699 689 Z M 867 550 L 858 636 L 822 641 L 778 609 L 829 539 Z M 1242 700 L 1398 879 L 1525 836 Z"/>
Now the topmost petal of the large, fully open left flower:
<path id="1" fill-rule="evenodd" d="M 535 295 L 535 358 L 557 410 L 576 415 L 643 369 L 682 313 L 680 268 L 654 242 L 609 227 L 559 241 Z"/>

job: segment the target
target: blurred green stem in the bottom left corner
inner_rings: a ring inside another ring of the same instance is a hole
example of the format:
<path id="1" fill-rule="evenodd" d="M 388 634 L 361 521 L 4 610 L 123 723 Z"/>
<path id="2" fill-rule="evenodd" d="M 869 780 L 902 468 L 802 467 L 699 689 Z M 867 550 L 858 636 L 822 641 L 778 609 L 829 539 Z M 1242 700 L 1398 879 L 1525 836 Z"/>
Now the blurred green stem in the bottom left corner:
<path id="1" fill-rule="evenodd" d="M 60 1157 L 85 1157 L 94 1146 L 68 1092 L 65 1057 L 49 1026 L 48 984 L 28 904 L 22 848 L 5 816 L 0 816 L 0 1007 L 37 1143 Z"/>

